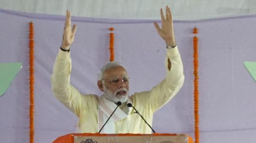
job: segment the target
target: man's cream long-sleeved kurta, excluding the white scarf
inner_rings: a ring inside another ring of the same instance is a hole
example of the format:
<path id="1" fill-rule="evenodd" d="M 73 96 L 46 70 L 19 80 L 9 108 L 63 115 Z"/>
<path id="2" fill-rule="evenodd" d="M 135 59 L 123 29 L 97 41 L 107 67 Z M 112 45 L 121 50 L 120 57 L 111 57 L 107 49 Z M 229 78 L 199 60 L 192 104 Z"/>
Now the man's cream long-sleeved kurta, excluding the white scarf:
<path id="1" fill-rule="evenodd" d="M 170 71 L 167 68 L 168 58 L 171 61 Z M 154 112 L 170 101 L 184 82 L 183 65 L 178 47 L 167 49 L 165 61 L 166 78 L 150 91 L 131 95 L 133 106 L 150 125 L 152 125 Z M 98 132 L 98 96 L 82 95 L 70 85 L 70 73 L 70 53 L 59 50 L 51 77 L 52 91 L 61 103 L 79 117 L 78 124 L 81 132 Z M 127 118 L 115 122 L 115 133 L 152 133 L 148 125 L 134 112 L 131 111 Z"/>

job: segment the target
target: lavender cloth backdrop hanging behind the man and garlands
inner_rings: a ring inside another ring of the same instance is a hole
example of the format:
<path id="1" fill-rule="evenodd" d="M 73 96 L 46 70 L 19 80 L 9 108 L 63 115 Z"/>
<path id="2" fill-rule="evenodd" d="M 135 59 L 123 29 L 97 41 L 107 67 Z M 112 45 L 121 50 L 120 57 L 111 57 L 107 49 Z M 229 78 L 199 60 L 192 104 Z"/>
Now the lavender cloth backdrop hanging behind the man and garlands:
<path id="1" fill-rule="evenodd" d="M 75 132 L 78 118 L 57 101 L 50 82 L 65 17 L 0 10 L 0 19 L 0 62 L 23 63 L 7 93 L 0 97 L 0 142 L 29 141 L 30 21 L 35 31 L 35 142 L 48 143 Z M 158 84 L 165 77 L 166 48 L 153 22 L 72 17 L 77 32 L 71 47 L 71 84 L 81 93 L 102 94 L 96 73 L 109 60 L 109 27 L 115 28 L 115 61 L 128 70 L 130 93 Z M 200 141 L 255 142 L 256 83 L 243 62 L 256 61 L 256 16 L 174 21 L 185 81 L 176 97 L 154 114 L 154 130 L 193 137 L 195 26 L 199 29 Z"/>

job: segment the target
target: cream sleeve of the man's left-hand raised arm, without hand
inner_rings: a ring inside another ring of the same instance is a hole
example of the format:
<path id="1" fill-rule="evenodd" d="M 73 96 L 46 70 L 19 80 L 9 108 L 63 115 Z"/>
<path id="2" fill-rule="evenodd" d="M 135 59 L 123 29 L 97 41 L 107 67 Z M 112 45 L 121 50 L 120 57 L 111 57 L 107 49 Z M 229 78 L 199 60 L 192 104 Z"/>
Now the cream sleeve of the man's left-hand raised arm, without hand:
<path id="1" fill-rule="evenodd" d="M 54 96 L 77 116 L 80 114 L 81 94 L 70 85 L 70 53 L 59 50 L 51 76 Z"/>

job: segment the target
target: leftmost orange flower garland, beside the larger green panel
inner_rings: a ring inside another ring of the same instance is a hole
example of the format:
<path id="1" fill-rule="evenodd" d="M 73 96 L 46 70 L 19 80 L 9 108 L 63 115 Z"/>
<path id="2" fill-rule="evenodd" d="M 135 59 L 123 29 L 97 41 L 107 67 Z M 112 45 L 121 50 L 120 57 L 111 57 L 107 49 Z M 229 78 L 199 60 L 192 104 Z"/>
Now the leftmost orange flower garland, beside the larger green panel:
<path id="1" fill-rule="evenodd" d="M 33 23 L 29 23 L 29 142 L 34 143 L 34 28 Z"/>

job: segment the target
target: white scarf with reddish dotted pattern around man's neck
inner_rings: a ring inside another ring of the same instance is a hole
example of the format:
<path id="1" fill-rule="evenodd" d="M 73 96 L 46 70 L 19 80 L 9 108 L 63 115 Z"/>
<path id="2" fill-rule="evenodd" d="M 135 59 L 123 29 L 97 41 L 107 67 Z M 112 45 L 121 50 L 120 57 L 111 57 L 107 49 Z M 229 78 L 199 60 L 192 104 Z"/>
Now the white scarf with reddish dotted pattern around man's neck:
<path id="1" fill-rule="evenodd" d="M 98 97 L 98 131 L 102 128 L 102 126 L 105 124 L 106 120 L 108 120 L 109 116 L 113 113 L 117 105 L 106 99 L 104 96 Z M 126 101 L 126 104 L 131 103 L 130 97 L 128 97 L 128 100 Z M 130 114 L 130 111 L 132 110 L 127 105 L 125 106 L 129 109 L 128 114 Z M 119 107 L 116 109 L 115 113 L 111 116 L 111 118 L 108 120 L 104 128 L 101 130 L 100 133 L 107 133 L 107 134 L 114 134 L 115 127 L 114 122 L 123 120 L 128 116 L 122 109 Z"/>

